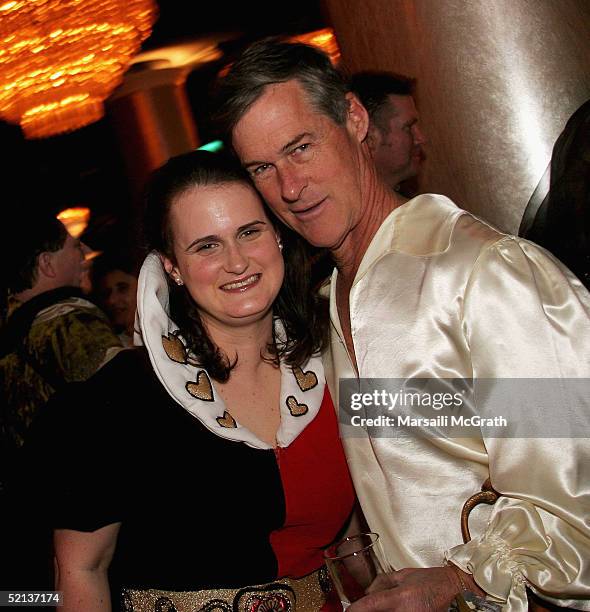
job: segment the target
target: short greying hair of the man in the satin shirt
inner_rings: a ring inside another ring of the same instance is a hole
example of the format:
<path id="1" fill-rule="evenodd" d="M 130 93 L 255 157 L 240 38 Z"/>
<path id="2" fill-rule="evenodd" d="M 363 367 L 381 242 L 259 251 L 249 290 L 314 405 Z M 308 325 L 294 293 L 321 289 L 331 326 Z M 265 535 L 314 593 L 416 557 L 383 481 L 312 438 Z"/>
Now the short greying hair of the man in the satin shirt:
<path id="1" fill-rule="evenodd" d="M 217 85 L 215 120 L 221 131 L 231 133 L 267 85 L 296 79 L 308 101 L 338 125 L 348 111 L 345 78 L 329 57 L 316 47 L 266 38 L 250 45 Z"/>

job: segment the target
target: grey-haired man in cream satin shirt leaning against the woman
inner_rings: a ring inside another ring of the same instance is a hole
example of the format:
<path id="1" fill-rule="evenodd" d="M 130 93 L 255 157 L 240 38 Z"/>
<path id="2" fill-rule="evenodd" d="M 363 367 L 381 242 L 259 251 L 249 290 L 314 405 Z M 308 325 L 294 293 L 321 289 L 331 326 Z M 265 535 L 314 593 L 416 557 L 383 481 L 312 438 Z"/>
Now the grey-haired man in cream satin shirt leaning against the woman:
<path id="1" fill-rule="evenodd" d="M 542 249 L 447 198 L 405 202 L 380 181 L 367 111 L 324 54 L 255 43 L 219 96 L 219 119 L 262 196 L 336 263 L 326 357 L 336 396 L 338 379 L 355 377 L 588 377 L 581 285 Z M 584 426 L 588 412 L 576 414 Z M 350 612 L 446 610 L 464 587 L 506 610 L 527 609 L 526 587 L 590 609 L 585 441 L 479 430 L 343 441 L 369 526 L 392 566 L 411 568 Z M 462 506 L 490 477 L 502 497 L 477 509 L 463 544 Z"/>

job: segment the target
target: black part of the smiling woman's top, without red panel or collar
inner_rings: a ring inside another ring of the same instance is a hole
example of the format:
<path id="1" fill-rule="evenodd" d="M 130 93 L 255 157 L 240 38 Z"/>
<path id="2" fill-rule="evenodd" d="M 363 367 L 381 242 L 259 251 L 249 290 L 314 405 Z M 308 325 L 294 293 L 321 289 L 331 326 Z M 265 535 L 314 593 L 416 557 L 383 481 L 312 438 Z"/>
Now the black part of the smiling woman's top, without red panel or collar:
<path id="1" fill-rule="evenodd" d="M 167 394 L 143 350 L 123 351 L 52 399 L 29 459 L 38 476 L 42 466 L 54 527 L 123 523 L 111 572 L 126 587 L 198 590 L 276 577 L 269 535 L 285 500 L 273 451 L 208 431 Z"/>

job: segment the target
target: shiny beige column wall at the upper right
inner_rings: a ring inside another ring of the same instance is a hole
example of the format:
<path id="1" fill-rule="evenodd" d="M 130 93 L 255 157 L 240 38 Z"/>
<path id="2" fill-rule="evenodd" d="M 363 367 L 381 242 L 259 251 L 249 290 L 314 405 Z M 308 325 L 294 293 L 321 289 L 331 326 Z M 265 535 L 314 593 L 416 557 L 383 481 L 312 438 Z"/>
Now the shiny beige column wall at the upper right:
<path id="1" fill-rule="evenodd" d="M 344 66 L 417 78 L 422 191 L 516 233 L 590 98 L 588 0 L 326 0 Z"/>

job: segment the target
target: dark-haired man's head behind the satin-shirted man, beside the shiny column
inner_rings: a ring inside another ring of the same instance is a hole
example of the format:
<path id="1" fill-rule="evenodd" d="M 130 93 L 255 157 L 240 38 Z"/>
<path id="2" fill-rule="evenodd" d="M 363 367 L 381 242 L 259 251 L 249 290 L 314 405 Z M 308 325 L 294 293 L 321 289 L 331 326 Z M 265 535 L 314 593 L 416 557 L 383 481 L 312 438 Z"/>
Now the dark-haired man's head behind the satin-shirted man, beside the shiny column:
<path id="1" fill-rule="evenodd" d="M 425 159 L 426 138 L 414 103 L 413 81 L 389 72 L 358 72 L 350 89 L 369 113 L 367 145 L 384 183 L 410 195 L 411 185 Z"/>

